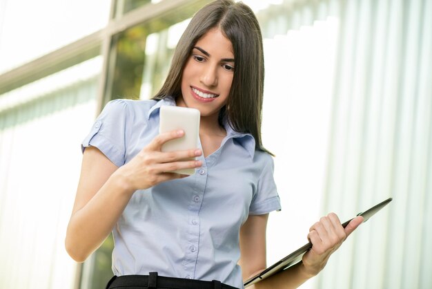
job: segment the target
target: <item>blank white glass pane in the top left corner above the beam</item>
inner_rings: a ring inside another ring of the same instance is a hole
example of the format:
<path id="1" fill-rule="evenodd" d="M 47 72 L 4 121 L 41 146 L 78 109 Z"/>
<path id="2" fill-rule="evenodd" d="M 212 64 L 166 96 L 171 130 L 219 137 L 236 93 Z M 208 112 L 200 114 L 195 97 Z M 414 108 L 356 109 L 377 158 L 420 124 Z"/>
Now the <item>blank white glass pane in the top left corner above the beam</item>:
<path id="1" fill-rule="evenodd" d="M 109 11 L 106 0 L 0 1 L 0 74 L 104 28 Z"/>

